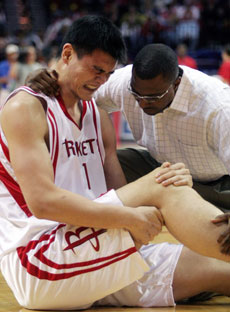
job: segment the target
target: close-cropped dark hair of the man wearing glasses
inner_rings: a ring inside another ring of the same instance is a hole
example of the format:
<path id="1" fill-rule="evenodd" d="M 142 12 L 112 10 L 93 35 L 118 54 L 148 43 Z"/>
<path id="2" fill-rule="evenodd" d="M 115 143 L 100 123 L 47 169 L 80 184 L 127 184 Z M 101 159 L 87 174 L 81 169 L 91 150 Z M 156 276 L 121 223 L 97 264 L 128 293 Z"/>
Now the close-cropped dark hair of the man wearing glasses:
<path id="1" fill-rule="evenodd" d="M 173 82 L 179 73 L 177 55 L 167 45 L 148 44 L 136 55 L 133 70 L 143 80 L 162 75 Z"/>

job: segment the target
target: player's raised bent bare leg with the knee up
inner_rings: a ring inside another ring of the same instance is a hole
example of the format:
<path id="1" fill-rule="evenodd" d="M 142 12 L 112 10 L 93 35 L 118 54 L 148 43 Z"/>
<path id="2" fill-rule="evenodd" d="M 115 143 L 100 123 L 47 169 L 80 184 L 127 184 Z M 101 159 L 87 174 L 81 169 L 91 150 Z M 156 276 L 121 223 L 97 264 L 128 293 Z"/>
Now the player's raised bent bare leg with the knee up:
<path id="1" fill-rule="evenodd" d="M 155 181 L 159 169 L 118 189 L 125 206 L 156 206 L 160 209 L 169 232 L 189 249 L 207 257 L 230 261 L 220 252 L 217 242 L 226 224 L 211 223 L 222 212 L 205 201 L 188 186 L 164 187 Z"/>

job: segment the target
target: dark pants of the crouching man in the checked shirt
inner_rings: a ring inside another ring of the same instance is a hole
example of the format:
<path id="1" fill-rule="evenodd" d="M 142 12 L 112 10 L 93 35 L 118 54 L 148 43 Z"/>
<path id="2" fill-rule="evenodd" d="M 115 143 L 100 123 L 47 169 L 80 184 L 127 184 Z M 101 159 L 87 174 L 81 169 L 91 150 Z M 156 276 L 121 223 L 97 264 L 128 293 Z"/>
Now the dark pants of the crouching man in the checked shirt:
<path id="1" fill-rule="evenodd" d="M 144 149 L 119 149 L 117 155 L 128 182 L 135 181 L 161 166 L 161 164 Z M 205 200 L 222 211 L 230 210 L 230 176 L 225 175 L 216 181 L 208 183 L 193 181 L 193 188 Z"/>

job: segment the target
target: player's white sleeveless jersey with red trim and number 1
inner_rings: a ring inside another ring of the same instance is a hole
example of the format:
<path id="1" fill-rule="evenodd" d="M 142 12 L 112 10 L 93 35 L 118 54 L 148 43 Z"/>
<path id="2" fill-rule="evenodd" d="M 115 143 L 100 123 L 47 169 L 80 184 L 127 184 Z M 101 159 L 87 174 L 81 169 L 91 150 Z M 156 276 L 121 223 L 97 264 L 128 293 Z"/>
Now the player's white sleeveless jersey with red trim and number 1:
<path id="1" fill-rule="evenodd" d="M 89 199 L 105 193 L 105 153 L 95 101 L 81 102 L 79 126 L 68 114 L 61 97 L 49 98 L 27 87 L 15 90 L 10 96 L 21 90 L 43 98 L 47 103 L 49 151 L 55 184 Z M 41 235 L 43 230 L 57 225 L 54 221 L 37 219 L 27 207 L 9 161 L 6 138 L 0 128 L 0 258 L 27 243 L 36 233 Z"/>

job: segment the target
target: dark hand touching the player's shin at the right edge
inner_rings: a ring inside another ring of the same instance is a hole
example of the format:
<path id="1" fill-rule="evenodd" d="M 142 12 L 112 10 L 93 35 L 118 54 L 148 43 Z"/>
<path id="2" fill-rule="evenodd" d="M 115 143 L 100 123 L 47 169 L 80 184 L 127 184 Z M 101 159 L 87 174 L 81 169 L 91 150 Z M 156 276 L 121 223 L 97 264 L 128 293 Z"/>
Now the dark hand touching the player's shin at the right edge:
<path id="1" fill-rule="evenodd" d="M 221 252 L 226 255 L 230 255 L 230 212 L 223 213 L 217 216 L 212 223 L 218 225 L 227 224 L 227 229 L 221 233 L 218 237 L 217 242 L 221 246 Z"/>

